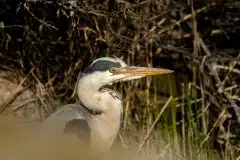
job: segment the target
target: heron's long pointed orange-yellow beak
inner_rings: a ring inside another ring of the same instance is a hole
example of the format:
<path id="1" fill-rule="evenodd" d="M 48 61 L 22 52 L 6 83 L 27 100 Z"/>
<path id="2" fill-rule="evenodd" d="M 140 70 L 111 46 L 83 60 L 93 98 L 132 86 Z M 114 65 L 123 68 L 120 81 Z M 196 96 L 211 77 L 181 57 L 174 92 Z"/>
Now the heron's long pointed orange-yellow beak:
<path id="1" fill-rule="evenodd" d="M 152 76 L 160 74 L 173 73 L 172 70 L 162 68 L 149 68 L 149 67 L 134 67 L 128 66 L 123 68 L 115 68 L 116 74 L 124 74 L 126 76 Z"/>

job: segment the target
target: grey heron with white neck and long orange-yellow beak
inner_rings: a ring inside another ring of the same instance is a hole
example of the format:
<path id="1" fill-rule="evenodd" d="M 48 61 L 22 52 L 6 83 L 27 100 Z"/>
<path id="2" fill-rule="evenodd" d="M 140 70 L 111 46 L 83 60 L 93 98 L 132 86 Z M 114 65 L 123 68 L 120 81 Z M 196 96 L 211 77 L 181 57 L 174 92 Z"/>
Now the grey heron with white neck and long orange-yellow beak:
<path id="1" fill-rule="evenodd" d="M 123 104 L 121 96 L 106 86 L 172 72 L 129 66 L 117 57 L 96 59 L 78 77 L 76 92 L 80 104 L 59 108 L 44 123 L 53 124 L 55 131 L 73 133 L 87 140 L 91 148 L 97 146 L 109 150 L 120 129 Z"/>

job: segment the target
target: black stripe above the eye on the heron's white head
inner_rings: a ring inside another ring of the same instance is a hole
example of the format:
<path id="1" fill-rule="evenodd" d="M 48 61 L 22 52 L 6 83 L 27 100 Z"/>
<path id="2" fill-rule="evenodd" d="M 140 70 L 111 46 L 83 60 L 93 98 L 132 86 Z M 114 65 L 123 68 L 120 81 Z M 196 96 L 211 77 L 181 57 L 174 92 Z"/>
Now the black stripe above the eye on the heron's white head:
<path id="1" fill-rule="evenodd" d="M 92 64 L 90 67 L 84 70 L 84 73 L 92 73 L 94 71 L 107 71 L 110 68 L 115 67 L 119 68 L 121 65 L 117 62 L 107 61 L 107 60 L 99 60 Z"/>

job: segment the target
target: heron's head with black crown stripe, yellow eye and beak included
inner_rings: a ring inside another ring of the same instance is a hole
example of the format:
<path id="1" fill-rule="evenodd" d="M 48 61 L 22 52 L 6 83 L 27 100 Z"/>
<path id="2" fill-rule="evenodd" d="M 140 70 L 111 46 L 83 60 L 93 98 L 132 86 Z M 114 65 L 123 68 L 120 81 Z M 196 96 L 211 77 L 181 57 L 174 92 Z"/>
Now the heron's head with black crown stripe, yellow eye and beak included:
<path id="1" fill-rule="evenodd" d="M 82 73 L 92 84 L 111 85 L 115 82 L 139 79 L 145 76 L 168 74 L 173 71 L 162 68 L 129 66 L 119 58 L 102 57 L 96 59 Z"/>

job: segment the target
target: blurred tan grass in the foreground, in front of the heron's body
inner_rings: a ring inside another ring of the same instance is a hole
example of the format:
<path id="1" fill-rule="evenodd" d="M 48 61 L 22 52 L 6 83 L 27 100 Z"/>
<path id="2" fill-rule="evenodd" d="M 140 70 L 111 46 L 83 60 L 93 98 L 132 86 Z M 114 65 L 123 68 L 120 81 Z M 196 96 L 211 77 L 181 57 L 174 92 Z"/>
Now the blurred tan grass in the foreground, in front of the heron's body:
<path id="1" fill-rule="evenodd" d="M 41 138 L 38 132 L 38 124 L 30 124 L 17 120 L 16 118 L 0 117 L 0 159 L 11 160 L 65 160 L 65 159 L 188 159 L 179 151 L 181 146 L 174 143 L 163 143 L 161 138 L 151 140 L 151 148 L 144 149 L 136 155 L 136 146 L 122 148 L 119 145 L 107 154 L 96 154 L 86 150 L 73 137 L 56 135 L 51 140 Z M 132 137 L 133 134 L 129 133 Z M 139 133 L 136 133 L 138 135 Z M 127 140 L 127 137 L 125 137 Z M 130 140 L 130 139 L 129 139 Z M 130 142 L 131 143 L 131 142 Z M 213 151 L 200 149 L 199 146 L 191 144 L 188 149 L 193 159 L 216 159 Z M 177 152 L 176 149 L 179 151 Z"/>

